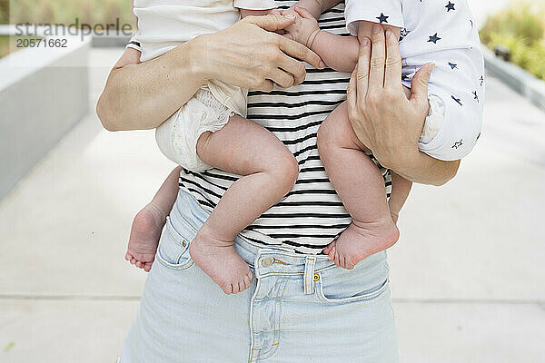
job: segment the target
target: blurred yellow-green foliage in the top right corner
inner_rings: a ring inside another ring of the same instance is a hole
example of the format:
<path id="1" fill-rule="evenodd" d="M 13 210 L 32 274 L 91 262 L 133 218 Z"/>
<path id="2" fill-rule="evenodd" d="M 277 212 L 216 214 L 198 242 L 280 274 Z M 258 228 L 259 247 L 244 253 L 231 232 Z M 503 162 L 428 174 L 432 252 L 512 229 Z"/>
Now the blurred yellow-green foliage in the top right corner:
<path id="1" fill-rule="evenodd" d="M 490 49 L 503 45 L 511 62 L 545 80 L 545 5 L 517 2 L 490 16 L 481 29 L 481 41 Z"/>

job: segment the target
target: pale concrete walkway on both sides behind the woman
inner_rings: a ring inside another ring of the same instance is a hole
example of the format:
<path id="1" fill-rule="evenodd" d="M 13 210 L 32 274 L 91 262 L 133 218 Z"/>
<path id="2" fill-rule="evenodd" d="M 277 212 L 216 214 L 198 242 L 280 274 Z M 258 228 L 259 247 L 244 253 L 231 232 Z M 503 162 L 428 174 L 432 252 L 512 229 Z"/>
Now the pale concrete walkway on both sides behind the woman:
<path id="1" fill-rule="evenodd" d="M 107 71 L 91 68 L 93 102 Z M 545 356 L 545 113 L 490 77 L 486 103 L 457 178 L 416 186 L 401 215 L 402 362 Z M 91 113 L 0 201 L 0 362 L 114 362 L 145 279 L 123 260 L 130 223 L 172 168 L 153 132 L 105 132 Z"/>

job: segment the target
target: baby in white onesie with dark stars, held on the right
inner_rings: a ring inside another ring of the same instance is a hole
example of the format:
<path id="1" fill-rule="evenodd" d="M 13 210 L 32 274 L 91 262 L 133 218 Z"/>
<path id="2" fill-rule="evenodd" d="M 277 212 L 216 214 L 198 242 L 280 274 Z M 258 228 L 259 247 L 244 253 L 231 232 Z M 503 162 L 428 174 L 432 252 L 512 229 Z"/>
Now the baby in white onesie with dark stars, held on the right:
<path id="1" fill-rule="evenodd" d="M 352 36 L 321 30 L 317 19 L 340 0 L 300 0 L 282 14 L 296 15 L 287 36 L 305 44 L 337 71 L 352 72 L 360 42 L 372 38 L 376 24 L 400 39 L 401 83 L 406 93 L 419 68 L 434 63 L 429 83 L 430 113 L 419 149 L 443 161 L 460 160 L 481 134 L 484 65 L 479 34 L 466 0 L 345 0 Z M 380 27 L 379 27 L 380 28 Z M 318 131 L 318 151 L 333 187 L 352 216 L 352 224 L 324 249 L 330 260 L 352 269 L 365 257 L 399 239 L 397 215 L 411 182 L 392 173 L 386 200 L 381 173 L 356 137 L 341 103 Z"/>

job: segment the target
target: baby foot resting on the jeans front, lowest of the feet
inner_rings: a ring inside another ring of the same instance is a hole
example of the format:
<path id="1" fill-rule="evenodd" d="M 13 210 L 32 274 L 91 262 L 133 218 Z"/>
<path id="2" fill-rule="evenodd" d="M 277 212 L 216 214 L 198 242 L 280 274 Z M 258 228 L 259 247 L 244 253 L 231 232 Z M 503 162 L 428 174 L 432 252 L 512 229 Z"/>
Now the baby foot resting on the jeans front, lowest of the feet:
<path id="1" fill-rule="evenodd" d="M 195 264 L 227 295 L 250 287 L 252 271 L 234 250 L 233 241 L 216 240 L 201 229 L 189 245 L 189 254 Z"/>

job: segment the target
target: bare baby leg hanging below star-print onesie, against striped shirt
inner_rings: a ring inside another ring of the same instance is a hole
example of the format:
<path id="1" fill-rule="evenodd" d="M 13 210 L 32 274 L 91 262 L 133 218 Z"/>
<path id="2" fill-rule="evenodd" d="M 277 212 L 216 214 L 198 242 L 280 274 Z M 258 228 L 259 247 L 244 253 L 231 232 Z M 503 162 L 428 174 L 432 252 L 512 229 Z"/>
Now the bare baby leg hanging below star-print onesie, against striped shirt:
<path id="1" fill-rule="evenodd" d="M 399 231 L 391 220 L 381 172 L 358 140 L 340 104 L 318 131 L 318 151 L 333 187 L 352 216 L 352 224 L 331 248 L 330 259 L 345 269 L 391 247 Z"/>

